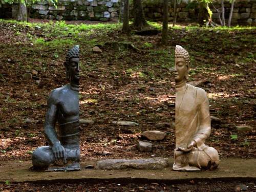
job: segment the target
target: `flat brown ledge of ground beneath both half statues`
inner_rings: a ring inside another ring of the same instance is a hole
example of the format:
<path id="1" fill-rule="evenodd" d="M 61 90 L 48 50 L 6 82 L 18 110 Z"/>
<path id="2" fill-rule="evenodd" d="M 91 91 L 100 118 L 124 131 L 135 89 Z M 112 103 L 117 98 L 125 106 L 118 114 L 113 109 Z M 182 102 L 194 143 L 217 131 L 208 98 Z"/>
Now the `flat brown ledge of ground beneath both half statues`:
<path id="1" fill-rule="evenodd" d="M 256 181 L 256 159 L 222 159 L 217 170 L 202 172 L 174 172 L 172 166 L 161 170 L 98 170 L 85 169 L 96 162 L 82 162 L 79 172 L 32 172 L 30 161 L 0 161 L 0 182 L 166 182 L 177 183 L 189 180 L 253 180 Z M 173 159 L 168 159 L 169 165 Z"/>

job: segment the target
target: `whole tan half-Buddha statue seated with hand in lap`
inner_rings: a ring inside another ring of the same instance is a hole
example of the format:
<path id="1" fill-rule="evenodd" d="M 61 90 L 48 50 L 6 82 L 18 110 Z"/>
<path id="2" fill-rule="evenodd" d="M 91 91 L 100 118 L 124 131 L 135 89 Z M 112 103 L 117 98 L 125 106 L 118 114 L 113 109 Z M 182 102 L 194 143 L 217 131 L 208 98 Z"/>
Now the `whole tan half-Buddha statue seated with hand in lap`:
<path id="1" fill-rule="evenodd" d="M 175 136 L 174 170 L 195 171 L 217 168 L 219 154 L 205 145 L 210 135 L 209 101 L 206 92 L 187 84 L 189 54 L 181 46 L 175 49 Z"/>

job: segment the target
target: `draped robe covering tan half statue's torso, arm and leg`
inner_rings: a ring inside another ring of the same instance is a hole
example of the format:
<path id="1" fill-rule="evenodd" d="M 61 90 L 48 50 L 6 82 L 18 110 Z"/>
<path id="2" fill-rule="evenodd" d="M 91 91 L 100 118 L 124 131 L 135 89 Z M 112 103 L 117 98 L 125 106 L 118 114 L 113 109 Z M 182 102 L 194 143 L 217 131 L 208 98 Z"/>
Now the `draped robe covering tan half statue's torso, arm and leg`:
<path id="1" fill-rule="evenodd" d="M 218 166 L 218 152 L 204 144 L 210 135 L 209 101 L 206 92 L 190 84 L 176 88 L 176 149 L 186 148 L 191 141 L 196 146 L 190 152 L 179 155 L 181 164 L 189 164 L 198 168 Z M 175 155 L 175 163 L 177 161 Z"/>

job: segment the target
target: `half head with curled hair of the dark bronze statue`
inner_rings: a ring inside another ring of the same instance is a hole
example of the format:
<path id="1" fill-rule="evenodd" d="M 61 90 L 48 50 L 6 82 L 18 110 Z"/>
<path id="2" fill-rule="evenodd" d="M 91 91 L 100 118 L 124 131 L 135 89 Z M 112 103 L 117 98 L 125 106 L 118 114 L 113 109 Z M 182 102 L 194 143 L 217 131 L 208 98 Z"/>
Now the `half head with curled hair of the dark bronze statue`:
<path id="1" fill-rule="evenodd" d="M 70 49 L 64 62 L 66 78 L 73 82 L 79 82 L 79 46 Z"/>

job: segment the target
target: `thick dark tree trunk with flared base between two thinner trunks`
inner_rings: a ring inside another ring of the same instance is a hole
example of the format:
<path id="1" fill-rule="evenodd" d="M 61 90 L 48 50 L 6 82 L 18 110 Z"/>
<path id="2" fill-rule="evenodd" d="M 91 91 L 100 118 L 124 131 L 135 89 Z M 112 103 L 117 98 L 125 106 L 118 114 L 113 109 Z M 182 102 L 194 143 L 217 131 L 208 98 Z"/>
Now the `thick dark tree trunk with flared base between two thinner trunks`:
<path id="1" fill-rule="evenodd" d="M 144 11 L 142 8 L 141 0 L 133 0 L 133 9 L 134 9 L 134 23 L 133 26 L 136 29 L 143 29 L 147 27 Z"/>

